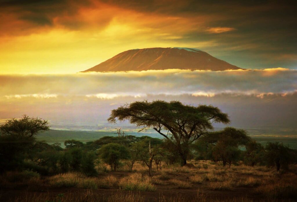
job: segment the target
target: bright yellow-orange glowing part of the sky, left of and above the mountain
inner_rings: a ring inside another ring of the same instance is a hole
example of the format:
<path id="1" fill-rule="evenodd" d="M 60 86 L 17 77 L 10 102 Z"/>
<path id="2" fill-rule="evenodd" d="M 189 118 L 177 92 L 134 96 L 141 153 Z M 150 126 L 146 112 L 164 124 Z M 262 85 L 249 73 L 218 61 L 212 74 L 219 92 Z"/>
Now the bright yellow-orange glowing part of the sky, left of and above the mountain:
<path id="1" fill-rule="evenodd" d="M 125 50 L 151 47 L 193 47 L 214 42 L 184 43 L 180 38 L 202 22 L 143 14 L 106 4 L 81 8 L 75 16 L 60 16 L 54 26 L 32 34 L 0 38 L 0 74 L 75 73 L 86 70 Z M 71 18 L 71 19 L 70 19 Z M 63 23 L 77 19 L 80 29 L 67 29 Z M 162 29 L 160 29 L 162 27 Z"/>

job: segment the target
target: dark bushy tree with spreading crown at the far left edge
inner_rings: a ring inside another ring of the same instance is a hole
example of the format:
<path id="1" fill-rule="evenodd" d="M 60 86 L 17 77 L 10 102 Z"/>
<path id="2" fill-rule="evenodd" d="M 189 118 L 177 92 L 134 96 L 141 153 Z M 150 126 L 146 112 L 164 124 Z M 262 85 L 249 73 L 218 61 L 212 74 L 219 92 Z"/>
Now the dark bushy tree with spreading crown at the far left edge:
<path id="1" fill-rule="evenodd" d="M 34 153 L 39 143 L 36 135 L 49 130 L 48 122 L 24 115 L 21 119 L 9 119 L 0 126 L 0 173 L 23 169 L 23 161 Z"/>

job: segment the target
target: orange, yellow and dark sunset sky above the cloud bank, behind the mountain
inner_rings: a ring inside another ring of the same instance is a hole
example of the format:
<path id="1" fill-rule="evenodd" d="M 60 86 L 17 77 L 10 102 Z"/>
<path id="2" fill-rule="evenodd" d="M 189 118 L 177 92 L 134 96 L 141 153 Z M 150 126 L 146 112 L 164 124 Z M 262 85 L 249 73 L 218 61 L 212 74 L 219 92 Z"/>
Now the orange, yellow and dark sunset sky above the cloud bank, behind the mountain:
<path id="1" fill-rule="evenodd" d="M 297 68 L 297 8 L 290 3 L 0 2 L 0 74 L 75 73 L 151 47 L 198 48 L 247 69 Z"/>

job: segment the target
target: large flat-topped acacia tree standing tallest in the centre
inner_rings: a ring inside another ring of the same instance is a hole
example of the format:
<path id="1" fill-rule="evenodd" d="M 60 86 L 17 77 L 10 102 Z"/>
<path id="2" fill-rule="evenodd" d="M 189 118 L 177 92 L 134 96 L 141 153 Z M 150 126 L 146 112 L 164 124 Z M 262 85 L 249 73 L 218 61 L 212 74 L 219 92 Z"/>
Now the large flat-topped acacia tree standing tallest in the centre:
<path id="1" fill-rule="evenodd" d="M 211 105 L 197 107 L 179 101 L 137 101 L 111 111 L 108 121 L 128 120 L 141 130 L 153 128 L 165 137 L 180 155 L 181 165 L 187 163 L 189 145 L 213 129 L 213 122 L 228 124 L 226 113 Z M 140 131 L 141 131 L 140 130 Z M 170 137 L 173 137 L 172 139 Z"/>

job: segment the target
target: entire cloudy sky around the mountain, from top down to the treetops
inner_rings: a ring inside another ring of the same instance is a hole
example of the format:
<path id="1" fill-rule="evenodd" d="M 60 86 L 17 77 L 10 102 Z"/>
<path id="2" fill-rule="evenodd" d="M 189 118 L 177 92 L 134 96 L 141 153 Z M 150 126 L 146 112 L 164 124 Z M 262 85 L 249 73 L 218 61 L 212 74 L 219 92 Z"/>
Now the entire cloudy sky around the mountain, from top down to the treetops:
<path id="1" fill-rule="evenodd" d="M 27 114 L 97 130 L 120 105 L 161 99 L 217 106 L 235 127 L 297 130 L 297 7 L 284 2 L 0 0 L 0 124 Z M 247 70 L 77 73 L 152 47 Z"/>

